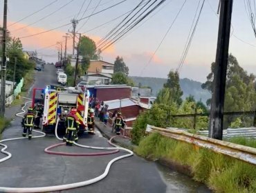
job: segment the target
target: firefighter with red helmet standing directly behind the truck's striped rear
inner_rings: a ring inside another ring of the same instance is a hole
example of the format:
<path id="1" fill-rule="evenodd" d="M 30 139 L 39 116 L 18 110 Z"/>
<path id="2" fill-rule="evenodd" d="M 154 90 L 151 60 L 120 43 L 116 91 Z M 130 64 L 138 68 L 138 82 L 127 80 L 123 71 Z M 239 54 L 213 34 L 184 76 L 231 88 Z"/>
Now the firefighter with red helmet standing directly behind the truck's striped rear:
<path id="1" fill-rule="evenodd" d="M 66 145 L 72 146 L 74 141 L 78 141 L 77 130 L 79 129 L 79 121 L 75 115 L 76 108 L 72 108 L 71 112 L 66 117 L 66 134 L 63 137 L 63 141 L 66 141 Z"/>

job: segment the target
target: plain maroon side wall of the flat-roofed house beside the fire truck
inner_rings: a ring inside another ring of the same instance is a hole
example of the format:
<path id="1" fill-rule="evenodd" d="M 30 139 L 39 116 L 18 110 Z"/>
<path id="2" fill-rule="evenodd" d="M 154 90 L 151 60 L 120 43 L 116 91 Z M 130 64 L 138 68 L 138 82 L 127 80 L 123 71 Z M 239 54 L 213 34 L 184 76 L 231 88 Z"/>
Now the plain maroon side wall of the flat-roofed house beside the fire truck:
<path id="1" fill-rule="evenodd" d="M 97 88 L 96 97 L 100 101 L 129 98 L 131 97 L 131 88 Z"/>

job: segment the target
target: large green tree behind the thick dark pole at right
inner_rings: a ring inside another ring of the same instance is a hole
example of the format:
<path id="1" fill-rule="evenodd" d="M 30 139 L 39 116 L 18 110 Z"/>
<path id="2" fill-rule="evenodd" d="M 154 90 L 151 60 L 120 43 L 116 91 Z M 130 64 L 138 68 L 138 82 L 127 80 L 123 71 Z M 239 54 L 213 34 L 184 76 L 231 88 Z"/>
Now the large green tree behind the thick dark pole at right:
<path id="1" fill-rule="evenodd" d="M 201 85 L 205 90 L 212 92 L 214 78 L 215 63 L 212 63 L 211 72 L 207 76 L 207 81 Z M 225 112 L 249 111 L 255 110 L 256 107 L 256 92 L 255 92 L 255 75 L 248 74 L 239 65 L 237 59 L 230 54 L 228 56 L 228 68 L 226 77 L 226 94 L 224 102 Z M 210 104 L 210 99 L 207 101 Z M 250 118 L 240 116 L 241 125 L 247 126 Z M 227 128 L 230 123 L 237 120 L 237 116 L 224 116 L 224 128 Z"/>

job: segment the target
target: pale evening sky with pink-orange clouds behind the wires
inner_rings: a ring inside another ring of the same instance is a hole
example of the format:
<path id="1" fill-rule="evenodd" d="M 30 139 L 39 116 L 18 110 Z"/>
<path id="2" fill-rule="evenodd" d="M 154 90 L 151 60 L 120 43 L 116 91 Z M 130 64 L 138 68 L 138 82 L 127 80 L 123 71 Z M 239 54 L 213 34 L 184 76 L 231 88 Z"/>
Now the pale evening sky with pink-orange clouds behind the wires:
<path id="1" fill-rule="evenodd" d="M 71 19 L 81 19 L 82 15 L 87 17 L 93 10 L 98 12 L 121 1 L 93 0 L 90 3 L 90 0 L 8 0 L 8 30 L 12 37 L 21 39 L 24 50 L 37 50 L 39 57 L 48 62 L 55 62 L 58 48 L 54 44 L 57 41 L 64 41 L 63 36 L 68 30 L 72 30 L 71 24 L 68 24 L 71 23 Z M 174 21 L 184 1 L 166 0 L 145 21 L 139 23 L 138 27 L 104 50 L 101 54 L 102 60 L 113 63 L 116 57 L 120 56 L 129 67 L 131 76 L 166 78 L 168 72 L 176 70 L 179 65 L 196 8 L 198 3 L 203 2 L 203 0 L 185 1 L 183 9 Z M 118 19 L 115 18 L 132 10 L 139 2 L 140 0 L 127 0 L 89 19 L 82 19 L 77 24 L 76 30 L 93 39 L 97 45 L 98 41 L 105 37 L 127 14 Z M 3 0 L 0 3 L 3 5 Z M 210 64 L 215 60 L 217 48 L 218 3 L 216 0 L 205 0 L 190 49 L 179 69 L 181 78 L 204 82 L 210 73 Z M 0 9 L 1 25 L 3 6 Z M 38 10 L 40 11 L 37 12 Z M 33 14 L 34 12 L 37 13 Z M 30 14 L 33 15 L 29 16 Z M 115 20 L 111 21 L 112 19 Z M 111 22 L 95 28 L 107 21 Z M 172 28 L 170 28 L 172 23 Z M 57 28 L 64 24 L 67 25 Z M 57 29 L 51 30 L 53 28 Z M 170 30 L 163 40 L 168 28 Z M 51 31 L 27 37 L 46 30 Z M 237 57 L 239 65 L 248 73 L 256 74 L 255 51 L 256 38 L 246 14 L 244 1 L 234 0 L 229 52 Z M 71 40 L 68 40 L 67 52 L 72 53 Z"/>

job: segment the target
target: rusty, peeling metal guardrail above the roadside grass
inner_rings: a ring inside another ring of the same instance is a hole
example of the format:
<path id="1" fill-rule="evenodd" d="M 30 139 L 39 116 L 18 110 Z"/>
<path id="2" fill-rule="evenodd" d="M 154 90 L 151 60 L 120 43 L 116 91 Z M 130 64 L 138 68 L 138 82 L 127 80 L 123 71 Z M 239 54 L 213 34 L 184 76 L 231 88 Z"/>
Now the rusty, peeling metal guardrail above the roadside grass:
<path id="1" fill-rule="evenodd" d="M 181 130 L 158 128 L 152 125 L 147 125 L 146 132 L 158 132 L 163 136 L 170 137 L 171 139 L 191 143 L 195 145 L 195 147 L 207 148 L 213 152 L 231 156 L 232 158 L 256 165 L 255 148 L 230 143 L 227 141 L 220 141 L 207 136 L 191 134 Z"/>

